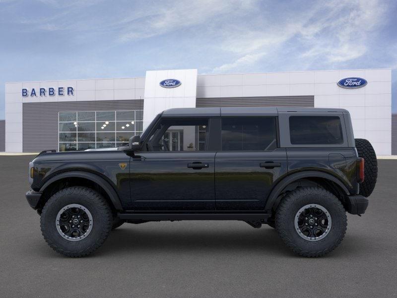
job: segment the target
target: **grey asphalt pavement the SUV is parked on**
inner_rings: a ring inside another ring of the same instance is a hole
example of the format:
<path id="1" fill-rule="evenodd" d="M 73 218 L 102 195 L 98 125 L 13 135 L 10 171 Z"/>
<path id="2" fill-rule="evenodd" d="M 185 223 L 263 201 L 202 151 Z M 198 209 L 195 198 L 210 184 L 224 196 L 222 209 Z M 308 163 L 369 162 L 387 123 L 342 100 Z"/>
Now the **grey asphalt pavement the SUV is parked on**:
<path id="1" fill-rule="evenodd" d="M 397 160 L 379 160 L 362 217 L 316 259 L 293 254 L 267 225 L 124 224 L 85 258 L 54 252 L 24 194 L 32 156 L 0 156 L 0 297 L 397 297 Z"/>

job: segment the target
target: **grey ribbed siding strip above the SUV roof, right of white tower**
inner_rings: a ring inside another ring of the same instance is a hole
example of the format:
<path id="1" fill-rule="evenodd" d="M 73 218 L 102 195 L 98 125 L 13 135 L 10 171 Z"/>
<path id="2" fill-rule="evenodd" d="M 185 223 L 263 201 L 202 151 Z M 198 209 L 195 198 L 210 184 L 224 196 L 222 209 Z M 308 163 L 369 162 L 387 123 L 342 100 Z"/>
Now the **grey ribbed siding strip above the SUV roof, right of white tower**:
<path id="1" fill-rule="evenodd" d="M 314 107 L 314 96 L 197 98 L 196 107 Z"/>

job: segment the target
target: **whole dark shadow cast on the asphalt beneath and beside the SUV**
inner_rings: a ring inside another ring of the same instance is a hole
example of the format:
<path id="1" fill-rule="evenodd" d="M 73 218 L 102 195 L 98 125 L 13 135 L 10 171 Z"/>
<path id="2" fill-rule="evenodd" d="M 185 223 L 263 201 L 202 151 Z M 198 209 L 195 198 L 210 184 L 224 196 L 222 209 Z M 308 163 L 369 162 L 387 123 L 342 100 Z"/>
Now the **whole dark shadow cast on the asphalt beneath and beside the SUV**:
<path id="1" fill-rule="evenodd" d="M 211 228 L 210 224 L 198 228 L 192 225 L 182 229 L 157 228 L 155 223 L 145 228 L 143 225 L 124 224 L 112 231 L 105 243 L 87 257 L 129 257 L 132 254 L 147 256 L 152 253 L 198 255 L 210 252 L 224 255 L 253 253 L 261 257 L 306 259 L 293 253 L 278 237 L 276 230 L 265 224 L 260 229 L 249 227 L 233 229 L 224 226 Z M 368 243 L 366 242 L 366 237 L 346 235 L 336 250 L 320 259 L 361 258 L 362 254 L 367 253 L 365 248 Z M 38 242 L 37 246 L 30 246 L 29 250 L 32 251 L 32 249 L 39 255 L 49 258 L 48 247 L 42 241 Z M 55 252 L 52 256 L 64 258 Z"/>

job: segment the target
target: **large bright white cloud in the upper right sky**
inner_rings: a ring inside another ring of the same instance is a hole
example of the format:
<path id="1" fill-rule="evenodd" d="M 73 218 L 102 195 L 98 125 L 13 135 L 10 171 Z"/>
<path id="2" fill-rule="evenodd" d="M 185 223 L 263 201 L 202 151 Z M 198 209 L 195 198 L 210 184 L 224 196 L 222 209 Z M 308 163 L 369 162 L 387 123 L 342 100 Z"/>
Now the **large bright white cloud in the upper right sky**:
<path id="1" fill-rule="evenodd" d="M 321 59 L 330 66 L 360 58 L 367 52 L 370 34 L 384 24 L 386 12 L 387 5 L 380 0 L 333 0 L 270 20 L 264 17 L 255 23 L 255 29 L 249 25 L 232 27 L 223 32 L 220 48 L 238 56 L 235 62 L 213 71 L 236 69 L 241 65 L 237 61 L 256 53 L 266 52 L 271 60 L 279 56 L 278 49 L 286 50 L 288 43 L 301 52 L 301 59 Z"/>

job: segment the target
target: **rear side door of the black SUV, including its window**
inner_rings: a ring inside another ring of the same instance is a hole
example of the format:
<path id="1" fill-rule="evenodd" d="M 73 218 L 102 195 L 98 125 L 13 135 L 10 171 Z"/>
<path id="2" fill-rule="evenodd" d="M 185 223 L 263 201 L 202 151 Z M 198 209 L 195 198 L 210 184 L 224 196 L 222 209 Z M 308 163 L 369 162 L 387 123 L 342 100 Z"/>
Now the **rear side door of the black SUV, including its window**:
<path id="1" fill-rule="evenodd" d="M 215 155 L 217 210 L 264 210 L 273 182 L 287 172 L 277 117 L 221 117 Z"/>

